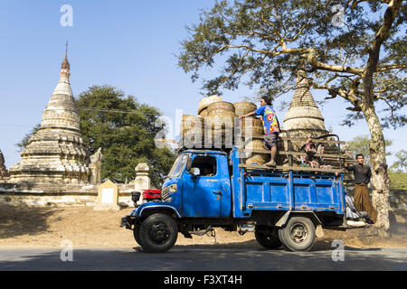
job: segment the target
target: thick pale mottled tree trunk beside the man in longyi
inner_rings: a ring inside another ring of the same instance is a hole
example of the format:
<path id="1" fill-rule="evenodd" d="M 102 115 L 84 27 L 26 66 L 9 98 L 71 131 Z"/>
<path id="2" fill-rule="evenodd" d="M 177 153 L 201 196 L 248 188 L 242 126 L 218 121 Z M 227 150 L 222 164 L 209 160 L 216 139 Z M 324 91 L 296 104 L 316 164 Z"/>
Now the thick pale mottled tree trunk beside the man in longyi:
<path id="1" fill-rule="evenodd" d="M 372 163 L 372 202 L 377 211 L 377 221 L 374 224 L 378 228 L 379 236 L 390 237 L 389 228 L 389 193 L 390 178 L 387 174 L 387 163 L 383 130 L 380 125 L 374 107 L 364 109 L 364 117 L 369 126 L 372 142 L 369 145 L 370 159 Z"/>

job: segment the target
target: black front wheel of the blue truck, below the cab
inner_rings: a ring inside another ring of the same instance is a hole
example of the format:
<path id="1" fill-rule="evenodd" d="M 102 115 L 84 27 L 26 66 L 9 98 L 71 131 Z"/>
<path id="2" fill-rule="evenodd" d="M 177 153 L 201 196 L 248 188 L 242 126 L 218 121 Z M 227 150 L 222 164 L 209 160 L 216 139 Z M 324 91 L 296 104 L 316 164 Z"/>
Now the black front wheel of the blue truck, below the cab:
<path id="1" fill-rule="evenodd" d="M 140 243 L 150 253 L 164 253 L 178 237 L 175 220 L 166 214 L 152 214 L 140 226 Z"/>

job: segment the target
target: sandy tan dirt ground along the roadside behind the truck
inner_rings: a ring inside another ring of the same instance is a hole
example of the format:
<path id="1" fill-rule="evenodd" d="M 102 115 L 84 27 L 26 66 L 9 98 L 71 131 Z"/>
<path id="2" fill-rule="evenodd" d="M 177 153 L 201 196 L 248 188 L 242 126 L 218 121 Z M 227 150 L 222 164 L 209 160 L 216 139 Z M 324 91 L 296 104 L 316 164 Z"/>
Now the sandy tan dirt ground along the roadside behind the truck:
<path id="1" fill-rule="evenodd" d="M 119 211 L 95 211 L 91 207 L 24 208 L 0 205 L 0 247 L 61 247 L 70 240 L 74 247 L 136 247 L 130 230 L 118 227 L 119 220 L 132 208 Z M 391 213 L 392 238 L 377 238 L 372 228 L 343 231 L 324 230 L 325 237 L 317 239 L 316 249 L 332 248 L 334 239 L 347 247 L 406 247 L 407 212 Z M 216 228 L 216 238 L 179 234 L 177 246 L 216 245 L 260 249 L 253 233 L 241 236 Z"/>

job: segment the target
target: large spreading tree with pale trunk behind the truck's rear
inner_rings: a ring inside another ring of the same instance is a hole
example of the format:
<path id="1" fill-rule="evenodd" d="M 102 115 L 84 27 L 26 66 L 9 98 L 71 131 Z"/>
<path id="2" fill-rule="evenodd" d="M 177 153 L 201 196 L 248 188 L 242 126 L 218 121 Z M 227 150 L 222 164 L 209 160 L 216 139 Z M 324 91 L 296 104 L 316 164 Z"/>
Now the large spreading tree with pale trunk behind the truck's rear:
<path id="1" fill-rule="evenodd" d="M 217 1 L 187 27 L 178 63 L 194 81 L 224 61 L 216 77 L 203 79 L 208 94 L 237 89 L 245 79 L 277 98 L 295 87 L 300 68 L 312 73 L 310 87 L 344 98 L 351 111 L 345 124 L 364 118 L 369 127 L 375 226 L 386 237 L 390 183 L 382 128 L 406 122 L 398 114 L 406 103 L 405 13 L 402 0 Z"/>

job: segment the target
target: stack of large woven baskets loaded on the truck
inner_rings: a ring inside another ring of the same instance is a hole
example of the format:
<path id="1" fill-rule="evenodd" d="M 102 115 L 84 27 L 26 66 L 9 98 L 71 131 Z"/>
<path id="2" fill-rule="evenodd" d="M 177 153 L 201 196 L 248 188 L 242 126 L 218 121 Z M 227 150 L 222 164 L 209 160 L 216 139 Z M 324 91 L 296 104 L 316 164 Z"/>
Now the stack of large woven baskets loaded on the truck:
<path id="1" fill-rule="evenodd" d="M 202 98 L 199 102 L 198 116 L 183 116 L 180 135 L 182 144 L 189 148 L 232 148 L 236 141 L 235 124 L 240 123 L 241 126 L 236 128 L 240 129 L 242 136 L 248 137 L 248 141 L 244 142 L 245 149 L 262 150 L 263 142 L 259 136 L 264 135 L 264 129 L 261 119 L 245 117 L 241 122 L 235 119 L 256 109 L 255 104 L 247 101 L 232 104 L 218 96 Z M 245 163 L 266 163 L 268 157 L 268 154 L 251 153 Z"/>

